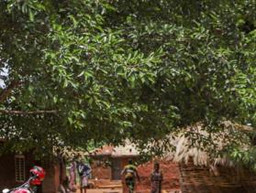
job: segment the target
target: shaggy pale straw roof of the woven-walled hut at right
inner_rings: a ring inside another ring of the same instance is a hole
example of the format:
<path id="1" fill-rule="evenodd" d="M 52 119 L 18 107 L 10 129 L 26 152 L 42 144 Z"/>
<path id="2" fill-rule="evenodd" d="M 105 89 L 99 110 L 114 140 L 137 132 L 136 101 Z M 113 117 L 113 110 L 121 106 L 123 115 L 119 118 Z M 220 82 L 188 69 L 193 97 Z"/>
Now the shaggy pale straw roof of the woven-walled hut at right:
<path id="1" fill-rule="evenodd" d="M 171 144 L 175 147 L 173 152 L 166 153 L 165 158 L 174 162 L 183 162 L 187 164 L 192 161 L 195 166 L 234 166 L 234 163 L 228 158 L 228 155 L 211 154 L 209 149 L 213 152 L 225 152 L 228 145 L 236 142 L 240 148 L 247 149 L 249 147 L 249 139 L 244 132 L 250 132 L 252 128 L 249 126 L 242 126 L 230 122 L 224 122 L 223 127 L 217 131 L 209 134 L 206 132 L 202 124 L 196 124 L 184 129 L 183 134 L 175 137 L 170 137 Z M 189 134 L 190 137 L 186 137 Z M 197 135 L 203 140 L 213 142 L 201 148 L 203 143 L 196 145 L 196 141 L 191 138 L 191 135 Z"/>

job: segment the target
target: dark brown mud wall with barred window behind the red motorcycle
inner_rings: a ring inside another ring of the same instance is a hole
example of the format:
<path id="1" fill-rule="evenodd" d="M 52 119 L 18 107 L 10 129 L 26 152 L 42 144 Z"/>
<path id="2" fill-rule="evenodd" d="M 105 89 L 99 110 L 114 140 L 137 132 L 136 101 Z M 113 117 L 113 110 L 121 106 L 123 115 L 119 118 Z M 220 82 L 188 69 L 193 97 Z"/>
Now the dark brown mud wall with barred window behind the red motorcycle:
<path id="1" fill-rule="evenodd" d="M 0 145 L 5 141 L 0 139 Z M 60 186 L 61 166 L 56 160 L 37 161 L 31 152 L 6 153 L 0 155 L 0 191 L 4 188 L 16 188 L 26 182 L 32 166 L 42 166 L 46 171 L 42 190 L 44 193 L 56 193 Z"/>

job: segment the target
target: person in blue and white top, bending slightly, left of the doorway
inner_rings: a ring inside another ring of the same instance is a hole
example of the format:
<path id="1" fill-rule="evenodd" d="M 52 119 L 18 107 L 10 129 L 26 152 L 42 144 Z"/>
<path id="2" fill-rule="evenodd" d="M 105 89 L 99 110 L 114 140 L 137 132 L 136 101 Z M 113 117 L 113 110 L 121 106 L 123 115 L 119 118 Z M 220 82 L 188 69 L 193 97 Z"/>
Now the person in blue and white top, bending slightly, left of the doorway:
<path id="1" fill-rule="evenodd" d="M 80 192 L 86 193 L 86 188 L 88 187 L 88 176 L 92 172 L 92 169 L 90 166 L 83 164 L 83 162 L 78 162 L 77 170 L 80 177 Z"/>

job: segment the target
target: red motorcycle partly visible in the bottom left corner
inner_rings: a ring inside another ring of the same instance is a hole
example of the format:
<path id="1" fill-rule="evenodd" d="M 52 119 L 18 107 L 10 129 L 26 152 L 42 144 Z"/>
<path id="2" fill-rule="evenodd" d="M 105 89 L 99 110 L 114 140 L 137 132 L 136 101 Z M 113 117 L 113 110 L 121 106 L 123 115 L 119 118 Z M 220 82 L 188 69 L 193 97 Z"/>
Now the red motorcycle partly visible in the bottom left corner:
<path id="1" fill-rule="evenodd" d="M 45 171 L 40 166 L 34 166 L 32 169 L 30 169 L 30 176 L 28 178 L 28 181 L 25 182 L 23 185 L 21 185 L 18 188 L 13 189 L 3 189 L 3 193 L 36 193 L 37 192 L 37 186 L 41 185 L 44 177 L 45 177 Z"/>

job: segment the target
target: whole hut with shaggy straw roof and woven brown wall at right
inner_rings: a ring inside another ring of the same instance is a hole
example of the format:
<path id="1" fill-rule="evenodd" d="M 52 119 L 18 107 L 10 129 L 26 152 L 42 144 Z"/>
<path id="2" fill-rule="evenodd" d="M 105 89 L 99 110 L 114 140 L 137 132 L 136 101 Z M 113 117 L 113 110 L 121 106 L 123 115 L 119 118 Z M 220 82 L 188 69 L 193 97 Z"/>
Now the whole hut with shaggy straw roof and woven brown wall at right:
<path id="1" fill-rule="evenodd" d="M 214 142 L 206 144 L 206 148 L 196 146 L 193 139 L 185 136 L 189 132 L 208 139 L 210 134 L 201 124 L 184 129 L 184 134 L 170 137 L 171 144 L 176 148 L 164 158 L 178 163 L 182 192 L 255 192 L 255 173 L 245 166 L 237 165 L 225 154 L 228 145 L 234 141 L 241 149 L 249 148 L 250 139 L 243 133 L 251 130 L 248 126 L 223 123 L 221 130 L 211 134 Z M 211 151 L 213 149 L 215 152 Z"/>

